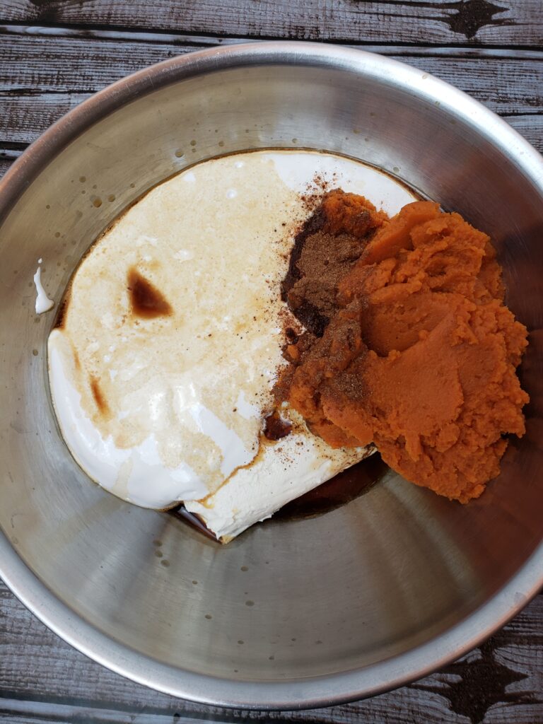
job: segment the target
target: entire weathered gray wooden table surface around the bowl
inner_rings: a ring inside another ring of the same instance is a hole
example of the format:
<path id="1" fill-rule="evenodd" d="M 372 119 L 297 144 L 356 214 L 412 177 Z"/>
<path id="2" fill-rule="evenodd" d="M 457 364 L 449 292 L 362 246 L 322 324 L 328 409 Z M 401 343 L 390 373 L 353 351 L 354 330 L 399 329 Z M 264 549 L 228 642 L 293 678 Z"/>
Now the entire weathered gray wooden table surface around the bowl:
<path id="1" fill-rule="evenodd" d="M 91 93 L 177 54 L 288 38 L 376 51 L 471 93 L 543 150 L 543 0 L 0 0 L 0 175 Z M 204 707 L 64 644 L 0 581 L 0 721 L 543 723 L 543 595 L 458 662 L 307 712 Z"/>

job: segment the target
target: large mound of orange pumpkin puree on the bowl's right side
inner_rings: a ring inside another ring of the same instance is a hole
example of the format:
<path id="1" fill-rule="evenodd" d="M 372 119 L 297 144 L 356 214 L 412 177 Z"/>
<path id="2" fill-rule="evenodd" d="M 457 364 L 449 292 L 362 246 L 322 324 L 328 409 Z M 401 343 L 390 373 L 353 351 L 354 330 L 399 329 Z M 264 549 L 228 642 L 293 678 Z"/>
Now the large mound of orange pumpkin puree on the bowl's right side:
<path id="1" fill-rule="evenodd" d="M 437 203 L 410 203 L 338 286 L 289 400 L 330 445 L 375 442 L 406 479 L 460 502 L 500 473 L 524 433 L 515 368 L 526 327 L 503 303 L 489 237 Z"/>

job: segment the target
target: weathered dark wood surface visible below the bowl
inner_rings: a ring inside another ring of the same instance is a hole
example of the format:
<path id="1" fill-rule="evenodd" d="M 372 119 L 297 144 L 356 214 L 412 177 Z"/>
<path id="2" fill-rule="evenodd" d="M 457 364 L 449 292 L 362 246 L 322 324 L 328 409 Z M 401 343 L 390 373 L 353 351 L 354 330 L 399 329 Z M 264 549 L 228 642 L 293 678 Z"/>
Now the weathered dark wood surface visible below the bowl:
<path id="1" fill-rule="evenodd" d="M 182 718 L 225 723 L 536 724 L 543 721 L 542 620 L 539 595 L 459 662 L 365 702 L 309 712 L 243 712 L 182 702 L 90 662 L 34 618 L 0 581 L 0 721 L 38 723 L 54 716 L 56 722 L 106 724 L 162 724 Z M 479 718 L 472 715 L 474 705 Z"/>

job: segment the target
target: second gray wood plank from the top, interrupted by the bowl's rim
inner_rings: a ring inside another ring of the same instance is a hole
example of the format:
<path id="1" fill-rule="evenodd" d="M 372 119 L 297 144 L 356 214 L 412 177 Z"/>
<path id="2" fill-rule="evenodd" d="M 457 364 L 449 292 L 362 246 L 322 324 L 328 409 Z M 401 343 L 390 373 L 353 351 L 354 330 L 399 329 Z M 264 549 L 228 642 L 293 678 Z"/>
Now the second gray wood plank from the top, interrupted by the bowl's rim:
<path id="1" fill-rule="evenodd" d="M 207 45 L 84 37 L 58 37 L 53 43 L 41 35 L 0 35 L 0 91 L 12 96 L 93 93 L 143 67 Z M 526 58 L 507 51 L 474 56 L 473 51 L 465 55 L 432 54 L 432 49 L 380 50 L 458 85 L 499 113 L 543 110 L 543 51 L 532 51 Z"/>

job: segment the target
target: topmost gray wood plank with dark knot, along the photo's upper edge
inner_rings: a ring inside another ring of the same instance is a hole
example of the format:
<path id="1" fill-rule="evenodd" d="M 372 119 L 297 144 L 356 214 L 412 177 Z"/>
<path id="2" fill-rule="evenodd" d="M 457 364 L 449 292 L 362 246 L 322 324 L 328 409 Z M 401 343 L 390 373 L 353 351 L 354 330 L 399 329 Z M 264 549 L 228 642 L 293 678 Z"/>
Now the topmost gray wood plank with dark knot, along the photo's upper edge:
<path id="1" fill-rule="evenodd" d="M 539 0 L 4 0 L 0 20 L 369 43 L 537 46 Z"/>

